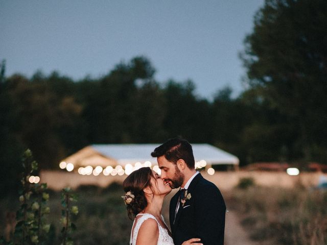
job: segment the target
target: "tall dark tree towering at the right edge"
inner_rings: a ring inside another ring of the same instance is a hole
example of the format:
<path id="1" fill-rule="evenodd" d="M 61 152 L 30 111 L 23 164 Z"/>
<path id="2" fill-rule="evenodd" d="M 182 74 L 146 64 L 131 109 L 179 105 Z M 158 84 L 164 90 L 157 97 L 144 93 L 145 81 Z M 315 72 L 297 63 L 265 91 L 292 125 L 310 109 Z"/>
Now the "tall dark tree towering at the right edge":
<path id="1" fill-rule="evenodd" d="M 245 39 L 248 84 L 279 114 L 267 138 L 278 135 L 291 159 L 317 159 L 314 145 L 327 147 L 326 12 L 324 0 L 266 0 Z"/>

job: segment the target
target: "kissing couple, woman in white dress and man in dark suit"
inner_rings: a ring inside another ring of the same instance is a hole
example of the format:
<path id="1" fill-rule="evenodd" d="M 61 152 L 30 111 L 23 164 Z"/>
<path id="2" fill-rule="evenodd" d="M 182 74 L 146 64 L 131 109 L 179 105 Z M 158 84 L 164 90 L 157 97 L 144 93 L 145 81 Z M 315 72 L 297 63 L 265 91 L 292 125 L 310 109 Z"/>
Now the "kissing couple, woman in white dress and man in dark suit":
<path id="1" fill-rule="evenodd" d="M 134 220 L 130 244 L 223 245 L 225 202 L 216 185 L 196 171 L 191 144 L 169 139 L 151 156 L 157 158 L 161 176 L 142 167 L 123 183 L 128 216 Z M 170 201 L 170 231 L 161 208 L 166 195 L 179 187 Z"/>

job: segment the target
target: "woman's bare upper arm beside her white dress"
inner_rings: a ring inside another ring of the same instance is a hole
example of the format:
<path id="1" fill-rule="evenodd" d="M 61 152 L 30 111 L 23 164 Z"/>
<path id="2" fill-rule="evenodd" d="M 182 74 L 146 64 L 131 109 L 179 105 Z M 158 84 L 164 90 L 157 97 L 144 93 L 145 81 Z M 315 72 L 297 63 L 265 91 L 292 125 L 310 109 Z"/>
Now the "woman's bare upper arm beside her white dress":
<path id="1" fill-rule="evenodd" d="M 158 223 L 153 218 L 148 218 L 138 230 L 136 245 L 156 245 L 158 236 Z"/>

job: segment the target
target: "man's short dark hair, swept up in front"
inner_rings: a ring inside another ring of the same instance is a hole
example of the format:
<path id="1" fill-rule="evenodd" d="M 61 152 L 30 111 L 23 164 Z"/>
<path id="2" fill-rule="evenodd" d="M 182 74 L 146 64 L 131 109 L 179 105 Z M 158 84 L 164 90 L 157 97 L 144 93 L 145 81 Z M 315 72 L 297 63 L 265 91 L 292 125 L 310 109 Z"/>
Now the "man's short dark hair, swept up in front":
<path id="1" fill-rule="evenodd" d="M 174 164 L 176 164 L 179 159 L 182 159 L 190 169 L 195 167 L 192 145 L 185 139 L 169 139 L 154 149 L 151 156 L 165 156 L 168 161 Z"/>

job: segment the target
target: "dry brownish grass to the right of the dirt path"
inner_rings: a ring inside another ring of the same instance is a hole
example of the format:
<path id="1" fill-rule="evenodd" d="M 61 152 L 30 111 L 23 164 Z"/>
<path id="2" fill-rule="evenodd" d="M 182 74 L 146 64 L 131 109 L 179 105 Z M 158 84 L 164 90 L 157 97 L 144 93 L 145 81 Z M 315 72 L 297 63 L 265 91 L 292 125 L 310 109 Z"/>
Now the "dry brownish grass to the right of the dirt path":
<path id="1" fill-rule="evenodd" d="M 327 191 L 267 188 L 236 188 L 230 208 L 242 215 L 242 224 L 256 241 L 273 244 L 327 244 Z"/>

